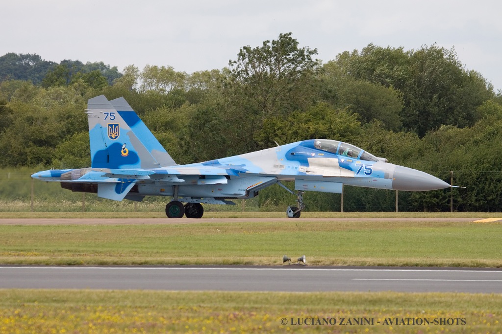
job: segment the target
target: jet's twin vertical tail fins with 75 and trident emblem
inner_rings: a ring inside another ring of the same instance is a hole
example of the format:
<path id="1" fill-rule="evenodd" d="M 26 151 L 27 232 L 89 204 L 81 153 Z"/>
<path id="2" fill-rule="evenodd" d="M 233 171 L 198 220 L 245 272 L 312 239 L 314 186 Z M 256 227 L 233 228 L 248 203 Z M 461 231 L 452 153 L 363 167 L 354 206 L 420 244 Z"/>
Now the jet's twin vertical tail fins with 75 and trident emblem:
<path id="1" fill-rule="evenodd" d="M 124 98 L 87 102 L 92 168 L 157 168 L 176 165 Z"/>

